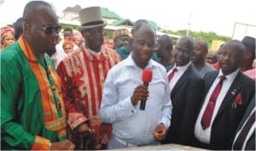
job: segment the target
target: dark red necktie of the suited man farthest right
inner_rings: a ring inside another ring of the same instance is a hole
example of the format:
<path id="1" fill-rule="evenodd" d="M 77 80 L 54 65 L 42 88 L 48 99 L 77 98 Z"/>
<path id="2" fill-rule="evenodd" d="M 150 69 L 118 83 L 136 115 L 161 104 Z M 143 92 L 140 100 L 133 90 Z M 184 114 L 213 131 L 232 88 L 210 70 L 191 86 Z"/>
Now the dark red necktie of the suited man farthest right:
<path id="1" fill-rule="evenodd" d="M 211 98 L 207 104 L 207 108 L 204 111 L 204 114 L 201 118 L 201 127 L 203 130 L 207 129 L 208 126 L 210 126 L 211 120 L 212 120 L 212 114 L 215 107 L 216 100 L 218 98 L 218 94 L 221 90 L 222 83 L 226 79 L 225 76 L 219 76 L 219 81 L 217 86 L 212 92 Z"/>

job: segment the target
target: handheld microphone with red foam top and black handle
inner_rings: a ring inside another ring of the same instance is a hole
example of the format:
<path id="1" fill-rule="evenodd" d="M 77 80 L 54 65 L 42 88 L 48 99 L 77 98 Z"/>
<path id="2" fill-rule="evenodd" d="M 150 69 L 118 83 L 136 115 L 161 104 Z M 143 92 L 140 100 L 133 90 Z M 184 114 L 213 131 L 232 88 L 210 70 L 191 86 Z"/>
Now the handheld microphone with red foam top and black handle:
<path id="1" fill-rule="evenodd" d="M 148 83 L 150 81 L 152 81 L 152 70 L 148 69 L 148 68 L 145 68 L 143 70 L 143 85 L 148 87 Z M 140 106 L 140 109 L 141 110 L 145 110 L 145 106 L 146 106 L 146 100 L 141 100 L 141 106 Z"/>

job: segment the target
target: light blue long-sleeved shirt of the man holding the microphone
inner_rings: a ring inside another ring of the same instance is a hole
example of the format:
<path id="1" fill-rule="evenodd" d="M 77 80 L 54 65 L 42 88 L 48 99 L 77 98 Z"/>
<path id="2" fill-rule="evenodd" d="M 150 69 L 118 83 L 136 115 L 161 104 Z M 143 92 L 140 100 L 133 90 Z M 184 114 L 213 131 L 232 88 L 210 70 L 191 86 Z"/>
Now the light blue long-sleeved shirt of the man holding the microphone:
<path id="1" fill-rule="evenodd" d="M 132 54 L 132 53 L 131 53 Z M 155 143 L 153 131 L 163 123 L 170 126 L 172 102 L 166 69 L 150 59 L 146 68 L 153 72 L 148 84 L 148 100 L 145 110 L 140 103 L 133 106 L 131 96 L 135 87 L 142 85 L 143 70 L 129 57 L 108 71 L 102 94 L 100 115 L 103 122 L 113 124 L 113 137 L 134 145 Z"/>

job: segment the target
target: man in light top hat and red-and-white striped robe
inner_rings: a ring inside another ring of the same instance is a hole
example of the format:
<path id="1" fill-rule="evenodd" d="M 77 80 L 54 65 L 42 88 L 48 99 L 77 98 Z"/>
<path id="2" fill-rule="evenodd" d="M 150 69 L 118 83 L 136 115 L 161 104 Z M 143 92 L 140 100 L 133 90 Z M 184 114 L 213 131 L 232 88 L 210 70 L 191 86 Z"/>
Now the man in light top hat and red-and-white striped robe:
<path id="1" fill-rule="evenodd" d="M 102 45 L 103 28 L 107 25 L 102 20 L 102 8 L 83 8 L 79 18 L 84 46 L 63 59 L 57 71 L 67 107 L 67 124 L 72 133 L 95 131 L 95 149 L 103 149 L 108 144 L 112 127 L 102 123 L 99 116 L 102 87 L 108 70 L 121 58 L 116 51 Z"/>

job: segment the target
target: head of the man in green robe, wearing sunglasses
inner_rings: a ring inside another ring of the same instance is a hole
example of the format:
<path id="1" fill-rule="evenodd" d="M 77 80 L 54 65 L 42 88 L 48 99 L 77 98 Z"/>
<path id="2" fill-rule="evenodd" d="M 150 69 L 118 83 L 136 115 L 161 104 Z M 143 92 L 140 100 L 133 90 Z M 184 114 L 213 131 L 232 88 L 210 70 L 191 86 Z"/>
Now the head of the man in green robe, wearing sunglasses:
<path id="1" fill-rule="evenodd" d="M 23 37 L 38 57 L 55 48 L 61 30 L 57 15 L 49 3 L 32 1 L 23 11 Z"/>

